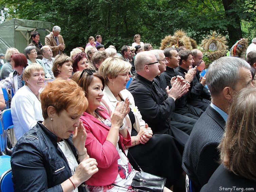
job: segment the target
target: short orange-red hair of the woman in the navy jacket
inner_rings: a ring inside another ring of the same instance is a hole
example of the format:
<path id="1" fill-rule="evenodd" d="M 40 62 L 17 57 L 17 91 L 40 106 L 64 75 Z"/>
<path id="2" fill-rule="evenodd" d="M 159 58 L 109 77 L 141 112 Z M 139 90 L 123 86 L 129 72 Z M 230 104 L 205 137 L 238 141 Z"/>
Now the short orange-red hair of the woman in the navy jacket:
<path id="1" fill-rule="evenodd" d="M 76 114 L 83 113 L 88 107 L 88 100 L 85 92 L 73 80 L 57 78 L 48 82 L 40 94 L 42 115 L 48 118 L 47 109 L 53 106 L 57 113 L 72 108 Z"/>

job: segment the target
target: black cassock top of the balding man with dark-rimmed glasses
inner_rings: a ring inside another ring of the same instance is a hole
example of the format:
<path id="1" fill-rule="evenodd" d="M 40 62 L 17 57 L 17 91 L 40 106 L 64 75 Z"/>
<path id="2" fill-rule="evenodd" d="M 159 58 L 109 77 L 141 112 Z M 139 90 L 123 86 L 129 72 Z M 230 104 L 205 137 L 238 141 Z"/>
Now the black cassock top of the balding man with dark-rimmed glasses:
<path id="1" fill-rule="evenodd" d="M 154 81 L 138 74 L 131 81 L 128 91 L 131 92 L 142 119 L 148 123 L 153 133 L 166 133 L 170 129 L 171 114 L 175 108 L 173 98 L 163 93 Z"/>

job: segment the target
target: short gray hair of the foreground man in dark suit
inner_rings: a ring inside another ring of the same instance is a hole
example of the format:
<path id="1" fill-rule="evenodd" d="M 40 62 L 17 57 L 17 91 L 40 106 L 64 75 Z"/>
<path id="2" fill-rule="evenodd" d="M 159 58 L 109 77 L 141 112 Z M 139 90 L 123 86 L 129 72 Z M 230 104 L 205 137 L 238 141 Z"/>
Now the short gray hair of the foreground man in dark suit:
<path id="1" fill-rule="evenodd" d="M 251 66 L 237 57 L 221 57 L 213 61 L 206 73 L 206 84 L 211 95 L 219 95 L 225 87 L 236 89 L 241 68 L 250 70 Z"/>

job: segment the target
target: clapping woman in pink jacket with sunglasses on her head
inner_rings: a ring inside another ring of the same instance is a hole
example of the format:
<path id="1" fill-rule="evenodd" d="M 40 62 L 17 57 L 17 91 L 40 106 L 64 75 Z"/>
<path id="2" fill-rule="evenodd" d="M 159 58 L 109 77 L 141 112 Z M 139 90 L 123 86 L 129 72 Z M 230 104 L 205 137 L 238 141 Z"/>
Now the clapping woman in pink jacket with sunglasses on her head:
<path id="1" fill-rule="evenodd" d="M 129 99 L 117 102 L 110 117 L 100 104 L 105 87 L 104 78 L 100 74 L 85 69 L 74 73 L 72 80 L 84 89 L 89 103 L 80 119 L 87 132 L 87 152 L 96 159 L 99 169 L 98 173 L 86 181 L 89 191 L 128 191 L 136 173 L 124 154 L 125 146 L 131 146 L 130 134 L 123 122 L 129 113 Z M 165 190 L 170 191 L 167 188 Z"/>

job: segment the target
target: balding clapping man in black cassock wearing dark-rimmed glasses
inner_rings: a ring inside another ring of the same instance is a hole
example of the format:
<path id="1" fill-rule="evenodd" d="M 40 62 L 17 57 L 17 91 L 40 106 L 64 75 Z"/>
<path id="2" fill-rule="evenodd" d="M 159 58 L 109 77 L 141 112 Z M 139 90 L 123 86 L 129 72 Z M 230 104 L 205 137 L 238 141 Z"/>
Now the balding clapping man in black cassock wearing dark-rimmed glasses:
<path id="1" fill-rule="evenodd" d="M 175 109 L 175 100 L 182 94 L 182 81 L 176 81 L 172 88 L 163 91 L 154 79 L 160 74 L 159 61 L 152 52 L 140 52 L 134 61 L 137 72 L 131 81 L 128 90 L 134 97 L 142 119 L 148 123 L 154 134 L 169 134 L 185 146 L 188 135 L 171 125 L 172 112 Z"/>

